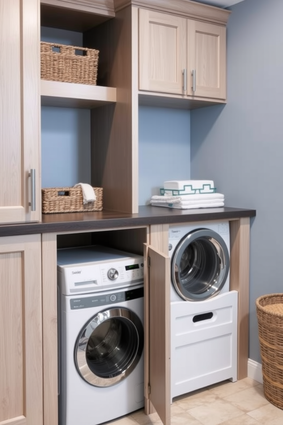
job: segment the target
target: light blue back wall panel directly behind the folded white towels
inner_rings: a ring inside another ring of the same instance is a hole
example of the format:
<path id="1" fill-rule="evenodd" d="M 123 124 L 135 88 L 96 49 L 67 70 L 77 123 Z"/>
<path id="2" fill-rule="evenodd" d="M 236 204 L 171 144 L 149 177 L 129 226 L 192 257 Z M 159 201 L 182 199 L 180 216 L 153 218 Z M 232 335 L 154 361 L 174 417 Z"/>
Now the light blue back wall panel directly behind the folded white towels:
<path id="1" fill-rule="evenodd" d="M 190 111 L 139 107 L 139 204 L 167 180 L 190 178 Z"/>

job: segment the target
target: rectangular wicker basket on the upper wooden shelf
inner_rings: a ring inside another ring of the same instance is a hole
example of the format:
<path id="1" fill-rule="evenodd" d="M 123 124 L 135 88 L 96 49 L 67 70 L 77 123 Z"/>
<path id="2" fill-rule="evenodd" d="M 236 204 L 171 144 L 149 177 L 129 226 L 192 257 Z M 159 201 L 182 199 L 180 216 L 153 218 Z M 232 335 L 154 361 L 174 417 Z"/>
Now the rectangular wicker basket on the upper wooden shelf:
<path id="1" fill-rule="evenodd" d="M 59 51 L 53 51 L 53 47 Z M 76 51 L 82 51 L 83 55 Z M 41 78 L 96 85 L 98 54 L 95 49 L 41 42 Z"/>

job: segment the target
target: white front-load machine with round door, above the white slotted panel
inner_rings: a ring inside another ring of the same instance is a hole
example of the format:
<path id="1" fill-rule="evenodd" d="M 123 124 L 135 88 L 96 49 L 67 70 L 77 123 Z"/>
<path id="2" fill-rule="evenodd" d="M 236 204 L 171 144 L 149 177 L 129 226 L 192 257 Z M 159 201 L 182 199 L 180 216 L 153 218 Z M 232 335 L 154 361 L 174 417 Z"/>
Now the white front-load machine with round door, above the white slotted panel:
<path id="1" fill-rule="evenodd" d="M 169 226 L 171 301 L 202 301 L 229 291 L 229 222 Z"/>

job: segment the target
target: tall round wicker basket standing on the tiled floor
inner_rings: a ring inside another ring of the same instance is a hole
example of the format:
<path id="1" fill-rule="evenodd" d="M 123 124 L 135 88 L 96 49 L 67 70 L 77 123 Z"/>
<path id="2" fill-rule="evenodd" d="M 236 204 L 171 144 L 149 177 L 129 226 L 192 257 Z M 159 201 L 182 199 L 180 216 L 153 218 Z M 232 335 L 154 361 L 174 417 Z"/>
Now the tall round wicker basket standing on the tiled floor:
<path id="1" fill-rule="evenodd" d="M 283 294 L 263 295 L 255 305 L 264 395 L 283 409 Z"/>

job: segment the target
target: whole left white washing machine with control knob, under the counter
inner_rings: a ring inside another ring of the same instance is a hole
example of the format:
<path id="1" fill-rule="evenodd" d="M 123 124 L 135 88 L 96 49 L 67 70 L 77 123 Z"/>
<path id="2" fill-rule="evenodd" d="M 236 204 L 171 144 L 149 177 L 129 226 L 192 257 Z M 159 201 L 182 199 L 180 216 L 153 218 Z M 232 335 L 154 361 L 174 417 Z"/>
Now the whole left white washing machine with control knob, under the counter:
<path id="1" fill-rule="evenodd" d="M 57 250 L 59 425 L 96 425 L 144 405 L 143 257 Z"/>

